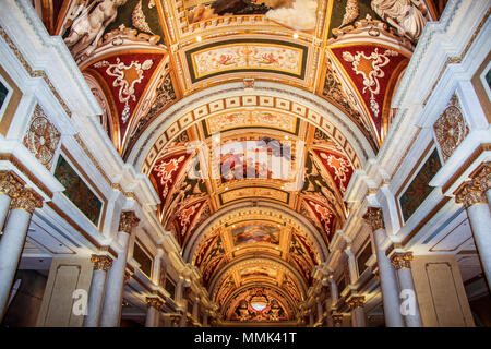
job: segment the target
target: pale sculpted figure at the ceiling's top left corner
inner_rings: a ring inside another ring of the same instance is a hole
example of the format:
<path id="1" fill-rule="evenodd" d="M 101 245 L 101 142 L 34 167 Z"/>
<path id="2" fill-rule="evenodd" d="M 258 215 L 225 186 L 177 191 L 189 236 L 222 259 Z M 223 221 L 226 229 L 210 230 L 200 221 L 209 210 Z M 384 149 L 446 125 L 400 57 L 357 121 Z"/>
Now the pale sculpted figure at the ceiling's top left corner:
<path id="1" fill-rule="evenodd" d="M 75 60 L 95 50 L 104 31 L 116 20 L 118 8 L 124 3 L 127 0 L 94 0 L 82 11 L 77 8 L 79 15 L 64 38 Z"/>

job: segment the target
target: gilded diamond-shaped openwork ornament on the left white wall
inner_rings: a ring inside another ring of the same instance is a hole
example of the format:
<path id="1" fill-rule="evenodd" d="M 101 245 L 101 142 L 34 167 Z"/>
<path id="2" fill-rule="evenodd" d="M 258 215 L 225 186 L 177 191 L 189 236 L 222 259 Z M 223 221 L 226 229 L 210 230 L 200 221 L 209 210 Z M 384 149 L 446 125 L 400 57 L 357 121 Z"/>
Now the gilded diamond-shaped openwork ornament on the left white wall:
<path id="1" fill-rule="evenodd" d="M 48 170 L 51 169 L 55 153 L 60 143 L 60 132 L 36 105 L 23 144 Z"/>

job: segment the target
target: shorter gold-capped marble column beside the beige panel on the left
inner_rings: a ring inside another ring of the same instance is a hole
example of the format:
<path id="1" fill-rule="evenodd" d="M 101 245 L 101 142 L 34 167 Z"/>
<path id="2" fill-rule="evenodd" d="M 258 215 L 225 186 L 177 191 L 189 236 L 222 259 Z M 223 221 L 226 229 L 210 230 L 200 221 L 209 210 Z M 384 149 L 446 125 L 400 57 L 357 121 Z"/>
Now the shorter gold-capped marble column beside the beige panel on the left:
<path id="1" fill-rule="evenodd" d="M 84 318 L 84 327 L 97 327 L 99 325 L 107 270 L 112 265 L 112 258 L 107 255 L 93 254 L 91 256 L 91 262 L 94 263 L 94 273 L 92 274 L 87 315 Z"/>

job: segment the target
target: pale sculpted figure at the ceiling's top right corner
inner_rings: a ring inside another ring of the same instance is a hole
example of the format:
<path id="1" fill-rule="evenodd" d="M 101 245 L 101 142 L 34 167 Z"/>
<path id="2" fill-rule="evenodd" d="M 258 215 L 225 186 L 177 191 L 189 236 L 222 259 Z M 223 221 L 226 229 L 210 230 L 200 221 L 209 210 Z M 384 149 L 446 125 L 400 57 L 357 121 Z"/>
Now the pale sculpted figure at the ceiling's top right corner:
<path id="1" fill-rule="evenodd" d="M 395 26 L 399 35 L 417 41 L 427 20 L 411 0 L 372 0 L 372 9 L 384 21 Z"/>

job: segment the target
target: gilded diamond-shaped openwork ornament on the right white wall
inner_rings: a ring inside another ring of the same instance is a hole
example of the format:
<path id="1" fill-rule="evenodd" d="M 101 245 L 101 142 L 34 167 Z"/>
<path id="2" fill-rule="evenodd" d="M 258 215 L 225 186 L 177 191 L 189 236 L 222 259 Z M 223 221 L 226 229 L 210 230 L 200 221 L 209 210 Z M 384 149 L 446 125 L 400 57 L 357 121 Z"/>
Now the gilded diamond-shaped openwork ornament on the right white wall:
<path id="1" fill-rule="evenodd" d="M 443 160 L 446 161 L 469 133 L 456 95 L 433 124 L 433 129 Z"/>

